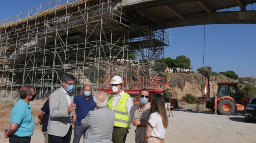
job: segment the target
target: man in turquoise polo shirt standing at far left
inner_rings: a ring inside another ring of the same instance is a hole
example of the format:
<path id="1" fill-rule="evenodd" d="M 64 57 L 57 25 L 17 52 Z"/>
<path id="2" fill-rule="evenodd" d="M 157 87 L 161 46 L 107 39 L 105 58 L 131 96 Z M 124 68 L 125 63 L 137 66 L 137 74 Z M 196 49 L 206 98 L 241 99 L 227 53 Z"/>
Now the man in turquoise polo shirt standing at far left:
<path id="1" fill-rule="evenodd" d="M 32 86 L 24 85 L 20 88 L 20 99 L 12 108 L 10 128 L 4 132 L 5 138 L 9 138 L 10 143 L 30 143 L 34 120 L 29 102 L 35 97 Z"/>

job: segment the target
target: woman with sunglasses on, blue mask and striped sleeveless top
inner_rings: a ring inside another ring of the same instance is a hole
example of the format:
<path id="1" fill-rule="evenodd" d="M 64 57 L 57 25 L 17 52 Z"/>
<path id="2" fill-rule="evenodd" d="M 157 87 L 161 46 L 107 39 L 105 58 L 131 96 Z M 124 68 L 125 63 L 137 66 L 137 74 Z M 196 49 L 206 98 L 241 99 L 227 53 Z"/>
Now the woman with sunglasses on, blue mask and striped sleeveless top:
<path id="1" fill-rule="evenodd" d="M 146 125 L 150 117 L 150 103 L 148 89 L 141 89 L 140 93 L 140 104 L 136 106 L 133 125 L 137 126 L 135 130 L 135 142 L 143 143 L 146 132 Z"/>

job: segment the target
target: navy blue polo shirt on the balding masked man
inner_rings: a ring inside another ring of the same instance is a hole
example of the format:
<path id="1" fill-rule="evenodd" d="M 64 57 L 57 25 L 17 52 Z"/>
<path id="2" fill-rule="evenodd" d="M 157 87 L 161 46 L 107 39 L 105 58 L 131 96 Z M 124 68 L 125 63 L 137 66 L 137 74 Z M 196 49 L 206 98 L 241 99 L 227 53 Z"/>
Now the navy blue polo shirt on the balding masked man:
<path id="1" fill-rule="evenodd" d="M 89 111 L 94 110 L 96 104 L 93 101 L 93 97 L 90 95 L 88 100 L 85 99 L 84 95 L 77 95 L 74 98 L 74 104 L 76 104 L 76 122 L 75 125 L 81 125 L 83 120 Z"/>

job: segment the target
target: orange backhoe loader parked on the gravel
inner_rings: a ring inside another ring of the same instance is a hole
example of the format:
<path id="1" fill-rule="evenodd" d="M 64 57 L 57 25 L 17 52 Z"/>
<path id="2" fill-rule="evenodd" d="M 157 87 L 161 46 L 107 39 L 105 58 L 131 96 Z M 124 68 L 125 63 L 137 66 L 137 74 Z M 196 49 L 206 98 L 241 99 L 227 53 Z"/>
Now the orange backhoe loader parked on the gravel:
<path id="1" fill-rule="evenodd" d="M 205 76 L 204 100 L 206 108 L 218 110 L 221 115 L 231 115 L 236 110 L 244 111 L 249 98 L 242 96 L 237 83 L 218 83 L 218 91 L 215 97 L 209 97 L 209 75 Z"/>

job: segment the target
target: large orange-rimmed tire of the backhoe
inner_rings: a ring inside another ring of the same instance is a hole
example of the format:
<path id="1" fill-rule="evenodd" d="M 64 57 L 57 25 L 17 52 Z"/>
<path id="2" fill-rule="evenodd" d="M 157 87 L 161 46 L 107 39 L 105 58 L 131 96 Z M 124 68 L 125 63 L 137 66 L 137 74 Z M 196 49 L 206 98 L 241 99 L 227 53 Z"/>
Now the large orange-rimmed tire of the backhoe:
<path id="1" fill-rule="evenodd" d="M 236 110 L 236 105 L 229 99 L 223 99 L 218 103 L 218 111 L 221 115 L 231 115 Z"/>

